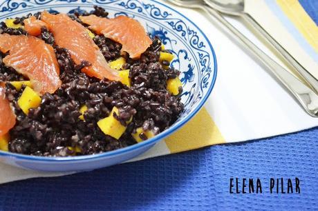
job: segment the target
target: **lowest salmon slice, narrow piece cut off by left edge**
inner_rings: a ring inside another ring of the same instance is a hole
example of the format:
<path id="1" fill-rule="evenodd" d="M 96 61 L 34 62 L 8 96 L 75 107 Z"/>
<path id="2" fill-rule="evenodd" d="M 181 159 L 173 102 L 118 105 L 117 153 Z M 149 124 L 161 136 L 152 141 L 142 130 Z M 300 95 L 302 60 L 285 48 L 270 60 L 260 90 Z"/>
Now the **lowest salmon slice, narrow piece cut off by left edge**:
<path id="1" fill-rule="evenodd" d="M 10 102 L 6 99 L 4 88 L 0 86 L 0 137 L 14 126 L 15 112 L 13 112 Z"/>

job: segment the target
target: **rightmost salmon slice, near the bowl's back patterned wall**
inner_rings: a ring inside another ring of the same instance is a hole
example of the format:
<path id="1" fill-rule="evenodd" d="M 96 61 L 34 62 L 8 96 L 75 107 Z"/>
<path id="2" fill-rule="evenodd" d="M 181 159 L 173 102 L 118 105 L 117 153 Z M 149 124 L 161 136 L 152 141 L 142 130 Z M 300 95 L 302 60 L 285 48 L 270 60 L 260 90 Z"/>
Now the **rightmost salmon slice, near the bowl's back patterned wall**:
<path id="1" fill-rule="evenodd" d="M 135 19 L 118 16 L 113 19 L 97 17 L 95 14 L 79 17 L 97 34 L 122 44 L 122 51 L 128 52 L 129 57 L 138 59 L 147 50 L 152 41 L 147 36 L 142 25 Z"/>

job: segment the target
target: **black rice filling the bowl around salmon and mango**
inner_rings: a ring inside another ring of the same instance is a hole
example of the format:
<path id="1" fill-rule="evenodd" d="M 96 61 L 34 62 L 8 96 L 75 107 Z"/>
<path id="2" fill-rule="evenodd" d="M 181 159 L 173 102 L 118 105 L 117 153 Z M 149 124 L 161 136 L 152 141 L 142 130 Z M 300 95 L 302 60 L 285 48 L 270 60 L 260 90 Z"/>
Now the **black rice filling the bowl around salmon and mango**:
<path id="1" fill-rule="evenodd" d="M 99 17 L 108 15 L 99 7 L 95 7 L 92 12 L 81 13 L 88 14 Z M 39 18 L 40 13 L 34 15 Z M 23 20 L 29 16 L 16 18 L 15 23 L 23 25 Z M 78 19 L 79 12 L 69 16 L 82 23 Z M 0 23 L 0 33 L 27 34 L 23 28 L 8 28 L 4 22 Z M 55 44 L 53 34 L 47 28 L 41 28 L 38 37 L 55 50 L 62 86 L 53 94 L 43 94 L 40 106 L 30 108 L 26 115 L 17 103 L 26 86 L 17 90 L 11 83 L 6 83 L 6 97 L 17 116 L 17 123 L 10 130 L 10 152 L 66 157 L 116 150 L 137 143 L 131 135 L 137 128 L 158 134 L 169 128 L 183 111 L 184 106 L 180 102 L 182 88 L 177 95 L 167 90 L 167 80 L 175 79 L 180 72 L 167 68 L 169 61 L 159 61 L 160 52 L 167 51 L 162 49 L 162 43 L 157 37 L 152 39 L 151 46 L 137 60 L 130 59 L 127 54 L 122 55 L 120 43 L 100 35 L 93 38 L 106 61 L 125 58 L 126 63 L 122 69 L 129 70 L 130 87 L 120 81 L 100 80 L 82 73 L 80 70 L 91 64 L 82 61 L 75 65 L 68 50 Z M 28 80 L 13 68 L 5 66 L 2 62 L 4 57 L 6 54 L 1 53 L 0 81 Z M 79 118 L 83 105 L 87 107 L 84 121 Z M 114 106 L 119 110 L 119 114 L 113 114 L 114 118 L 126 127 L 119 139 L 104 134 L 97 125 L 97 121 L 110 115 Z M 129 121 L 131 118 L 132 121 Z M 142 132 L 139 137 L 147 139 Z"/>

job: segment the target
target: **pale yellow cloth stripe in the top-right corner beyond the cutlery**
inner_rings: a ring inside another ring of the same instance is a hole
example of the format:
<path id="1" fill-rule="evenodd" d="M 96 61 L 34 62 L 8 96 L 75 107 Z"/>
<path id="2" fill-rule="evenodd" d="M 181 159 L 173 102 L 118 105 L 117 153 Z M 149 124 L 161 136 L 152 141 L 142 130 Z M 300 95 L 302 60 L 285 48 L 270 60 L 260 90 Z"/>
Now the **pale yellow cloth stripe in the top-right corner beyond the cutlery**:
<path id="1" fill-rule="evenodd" d="M 301 32 L 310 46 L 318 52 L 318 27 L 297 0 L 277 0 L 281 10 Z"/>

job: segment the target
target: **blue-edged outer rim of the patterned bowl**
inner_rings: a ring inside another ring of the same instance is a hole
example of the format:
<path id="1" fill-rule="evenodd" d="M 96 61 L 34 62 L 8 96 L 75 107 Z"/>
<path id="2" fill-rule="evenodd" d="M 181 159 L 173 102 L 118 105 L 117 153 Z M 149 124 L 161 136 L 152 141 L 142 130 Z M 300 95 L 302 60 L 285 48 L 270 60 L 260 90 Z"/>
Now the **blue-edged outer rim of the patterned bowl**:
<path id="1" fill-rule="evenodd" d="M 203 34 L 203 37 L 207 40 L 207 43 L 209 44 L 209 48 L 212 51 L 212 56 L 213 56 L 213 60 L 214 60 L 214 74 L 213 74 L 213 78 L 212 78 L 212 83 L 209 86 L 209 90 L 207 90 L 207 94 L 205 94 L 205 97 L 203 97 L 203 99 L 201 99 L 198 106 L 196 106 L 196 108 L 193 111 L 191 111 L 191 113 L 187 117 L 185 117 L 185 119 L 182 119 L 182 120 L 178 121 L 177 123 L 175 123 L 174 125 L 171 125 L 170 128 L 160 132 L 160 134 L 156 135 L 155 137 L 148 139 L 146 141 L 142 141 L 140 143 L 135 143 L 133 145 L 129 145 L 125 148 L 121 148 L 118 150 L 112 150 L 109 152 L 102 152 L 100 154 L 79 155 L 79 156 L 74 156 L 74 157 L 41 157 L 41 156 L 34 156 L 34 155 L 18 154 L 18 153 L 14 153 L 14 152 L 5 152 L 5 151 L 0 150 L 0 157 L 10 157 L 10 158 L 19 159 L 20 161 L 21 160 L 39 161 L 39 162 L 43 161 L 43 162 L 50 162 L 50 163 L 53 163 L 53 162 L 62 163 L 63 161 L 64 162 L 67 162 L 67 161 L 68 162 L 70 162 L 70 161 L 88 161 L 88 160 L 92 160 L 92 159 L 102 159 L 105 157 L 114 157 L 114 156 L 117 156 L 120 154 L 124 154 L 125 152 L 131 152 L 131 151 L 136 150 L 138 148 L 142 148 L 142 147 L 145 147 L 147 145 L 157 143 L 161 139 L 169 136 L 169 134 L 176 132 L 183 125 L 185 125 L 185 123 L 187 123 L 190 119 L 192 119 L 192 117 L 195 116 L 195 114 L 203 107 L 205 101 L 207 101 L 207 99 L 209 98 L 209 95 L 211 94 L 211 92 L 214 88 L 214 85 L 216 83 L 216 76 L 217 76 L 216 53 L 214 52 L 214 48 L 213 48 L 212 44 L 210 43 L 209 39 L 207 38 L 205 33 L 200 28 L 198 28 L 198 26 L 196 26 L 196 23 L 194 23 L 193 21 L 188 19 L 181 12 L 178 12 L 174 8 L 171 8 L 170 6 L 167 6 L 164 3 L 158 2 L 156 0 L 150 0 L 150 1 L 158 3 L 161 6 L 164 6 L 166 8 L 169 8 L 169 10 L 172 10 L 172 11 L 180 14 L 180 16 L 183 17 L 184 19 L 187 19 L 187 21 L 189 21 L 191 24 L 193 24 L 198 29 L 198 31 L 201 34 Z"/>

